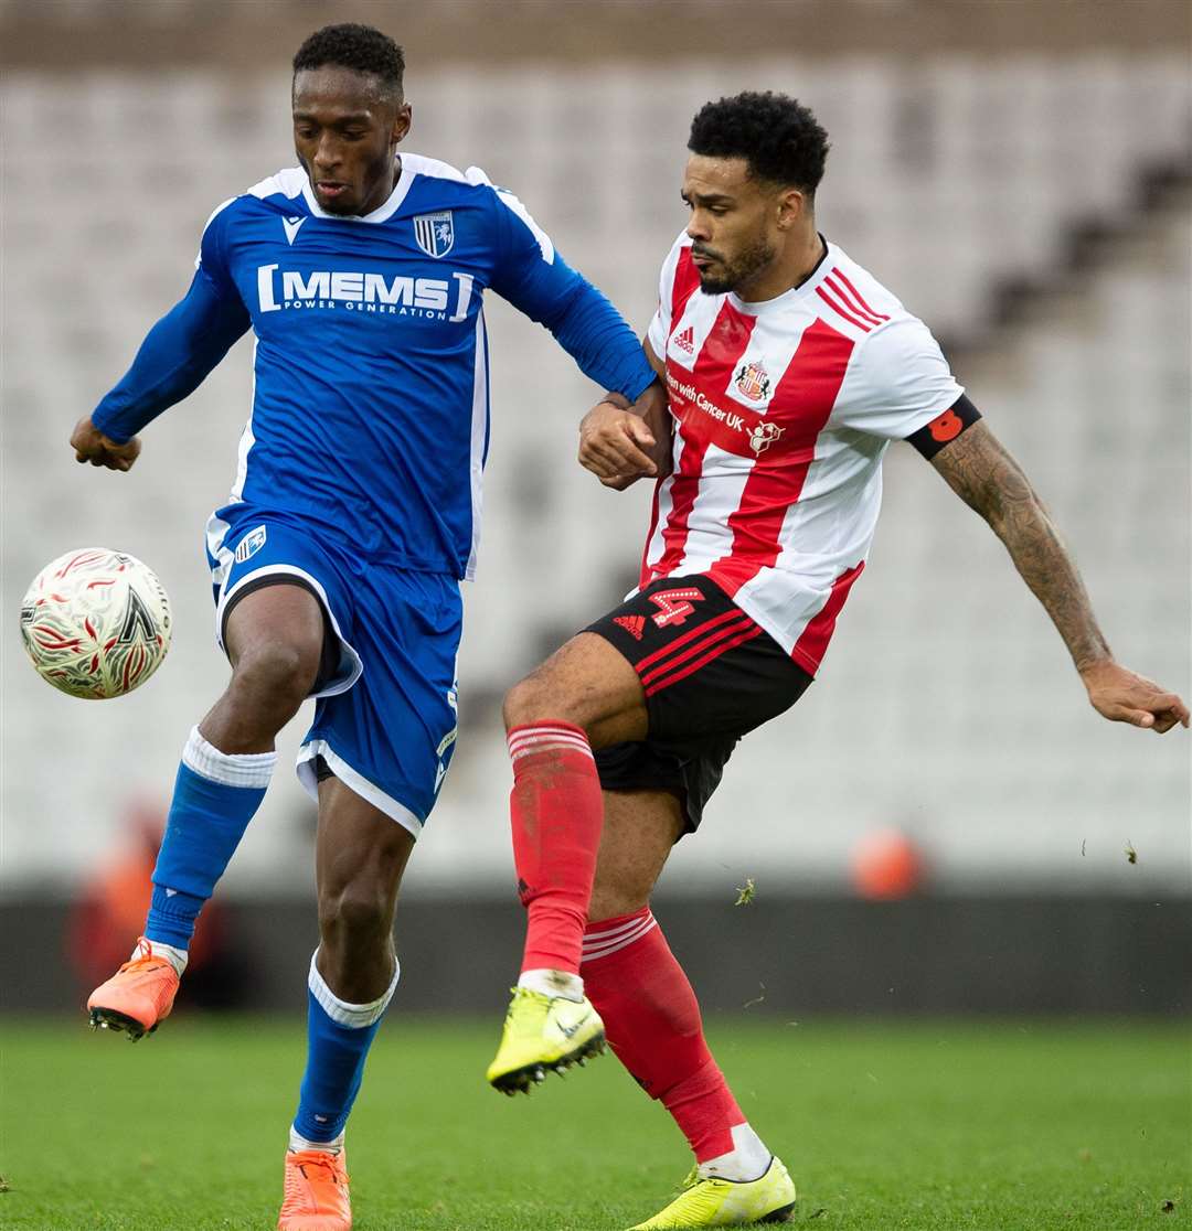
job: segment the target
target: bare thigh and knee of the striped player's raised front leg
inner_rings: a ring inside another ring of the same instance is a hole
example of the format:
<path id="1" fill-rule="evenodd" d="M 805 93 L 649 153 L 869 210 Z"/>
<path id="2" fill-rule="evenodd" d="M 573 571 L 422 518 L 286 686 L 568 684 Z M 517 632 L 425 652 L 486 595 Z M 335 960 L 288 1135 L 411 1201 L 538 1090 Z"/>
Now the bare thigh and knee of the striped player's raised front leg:
<path id="1" fill-rule="evenodd" d="M 543 719 L 582 728 L 595 748 L 640 740 L 646 729 L 642 684 L 608 641 L 580 633 L 505 698 L 506 729 Z"/>

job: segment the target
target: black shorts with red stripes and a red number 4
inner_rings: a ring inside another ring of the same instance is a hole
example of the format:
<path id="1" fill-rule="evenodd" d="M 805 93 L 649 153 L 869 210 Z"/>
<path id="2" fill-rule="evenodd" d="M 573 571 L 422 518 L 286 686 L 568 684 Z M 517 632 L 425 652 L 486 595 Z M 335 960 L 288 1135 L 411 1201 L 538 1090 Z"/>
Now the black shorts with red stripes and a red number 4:
<path id="1" fill-rule="evenodd" d="M 612 644 L 645 689 L 640 744 L 596 753 L 606 790 L 670 790 L 687 832 L 736 741 L 789 709 L 811 682 L 781 645 L 702 574 L 664 577 L 585 630 Z"/>

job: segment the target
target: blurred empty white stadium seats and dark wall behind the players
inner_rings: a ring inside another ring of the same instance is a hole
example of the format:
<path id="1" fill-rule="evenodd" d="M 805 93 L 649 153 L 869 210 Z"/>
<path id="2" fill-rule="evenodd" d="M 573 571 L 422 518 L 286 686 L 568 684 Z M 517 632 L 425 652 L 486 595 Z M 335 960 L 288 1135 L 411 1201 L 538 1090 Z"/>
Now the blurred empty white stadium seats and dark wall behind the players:
<path id="1" fill-rule="evenodd" d="M 821 229 L 941 339 L 1118 657 L 1188 697 L 1185 4 L 0 0 L 5 1009 L 75 1011 L 95 954 L 138 931 L 181 745 L 227 676 L 202 528 L 234 474 L 248 342 L 131 474 L 76 467 L 66 438 L 183 293 L 214 206 L 294 164 L 288 62 L 341 20 L 404 44 L 406 146 L 515 191 L 640 330 L 685 225 L 693 112 L 741 89 L 808 103 L 832 140 Z M 646 485 L 611 494 L 574 462 L 597 390 L 501 300 L 488 315 L 461 739 L 399 907 L 415 1008 L 502 1002 L 521 910 L 501 694 L 619 602 L 648 519 Z M 908 447 L 885 473 L 818 684 L 740 746 L 659 889 L 696 986 L 755 1013 L 1186 1011 L 1187 734 L 1100 720 L 989 529 Z M 176 617 L 158 676 L 105 704 L 41 683 L 17 635 L 34 574 L 86 545 L 151 564 Z M 308 718 L 207 923 L 212 1002 L 303 1003 Z"/>

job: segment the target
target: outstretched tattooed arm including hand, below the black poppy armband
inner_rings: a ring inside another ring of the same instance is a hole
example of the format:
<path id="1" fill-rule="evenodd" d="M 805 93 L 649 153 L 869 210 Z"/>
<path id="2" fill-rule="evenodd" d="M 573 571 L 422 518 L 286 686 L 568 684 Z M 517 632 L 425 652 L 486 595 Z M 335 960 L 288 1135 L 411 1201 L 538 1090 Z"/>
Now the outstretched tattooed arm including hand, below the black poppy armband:
<path id="1" fill-rule="evenodd" d="M 1159 735 L 1188 725 L 1172 692 L 1114 662 L 1080 574 L 1026 474 L 985 422 L 973 423 L 932 458 L 952 490 L 989 522 L 1022 580 L 1059 630 L 1093 709 Z"/>

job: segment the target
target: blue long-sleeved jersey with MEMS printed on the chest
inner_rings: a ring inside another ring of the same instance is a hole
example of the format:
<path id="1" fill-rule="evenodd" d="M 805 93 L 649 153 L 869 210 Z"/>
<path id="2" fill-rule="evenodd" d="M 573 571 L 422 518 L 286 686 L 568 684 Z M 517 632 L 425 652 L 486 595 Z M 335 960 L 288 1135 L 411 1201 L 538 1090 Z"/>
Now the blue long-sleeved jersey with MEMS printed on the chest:
<path id="1" fill-rule="evenodd" d="M 300 167 L 220 206 L 190 292 L 92 420 L 127 439 L 251 327 L 232 500 L 315 522 L 367 559 L 472 576 L 489 288 L 603 388 L 632 400 L 654 379 L 629 326 L 516 197 L 474 167 L 404 154 L 393 193 L 362 218 L 323 211 Z"/>

